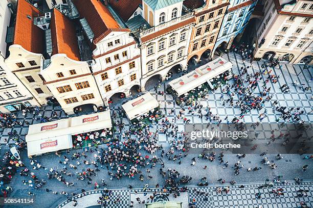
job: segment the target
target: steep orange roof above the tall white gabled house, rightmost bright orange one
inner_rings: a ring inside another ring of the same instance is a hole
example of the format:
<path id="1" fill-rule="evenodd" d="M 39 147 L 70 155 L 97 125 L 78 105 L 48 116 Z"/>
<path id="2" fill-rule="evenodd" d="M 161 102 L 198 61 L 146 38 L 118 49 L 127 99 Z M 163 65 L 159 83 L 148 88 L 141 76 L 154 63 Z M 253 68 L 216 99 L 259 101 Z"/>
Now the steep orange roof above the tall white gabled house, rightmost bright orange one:
<path id="1" fill-rule="evenodd" d="M 99 37 L 103 38 L 103 34 L 109 29 L 120 29 L 117 21 L 100 0 L 73 0 L 73 2 L 80 17 L 87 19 L 95 35 L 95 39 Z"/>

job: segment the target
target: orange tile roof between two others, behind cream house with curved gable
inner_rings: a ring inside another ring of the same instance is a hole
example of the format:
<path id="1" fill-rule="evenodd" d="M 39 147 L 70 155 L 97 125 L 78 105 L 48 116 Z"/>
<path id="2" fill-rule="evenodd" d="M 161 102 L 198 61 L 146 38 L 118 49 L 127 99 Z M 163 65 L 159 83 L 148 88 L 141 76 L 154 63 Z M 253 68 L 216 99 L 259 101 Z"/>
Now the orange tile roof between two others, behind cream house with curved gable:
<path id="1" fill-rule="evenodd" d="M 73 22 L 56 8 L 51 23 L 52 55 L 66 54 L 70 59 L 80 61 L 76 30 Z"/>

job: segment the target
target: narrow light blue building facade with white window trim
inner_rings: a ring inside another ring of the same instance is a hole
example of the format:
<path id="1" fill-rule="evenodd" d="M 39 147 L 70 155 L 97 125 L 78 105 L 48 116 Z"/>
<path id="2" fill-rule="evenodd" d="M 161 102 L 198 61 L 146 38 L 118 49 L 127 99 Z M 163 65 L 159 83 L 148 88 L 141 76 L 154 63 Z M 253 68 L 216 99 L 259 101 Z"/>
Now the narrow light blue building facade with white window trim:
<path id="1" fill-rule="evenodd" d="M 230 0 L 213 49 L 229 49 L 233 40 L 247 26 L 257 0 Z"/>

